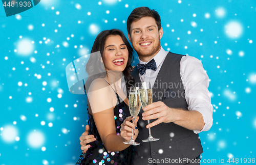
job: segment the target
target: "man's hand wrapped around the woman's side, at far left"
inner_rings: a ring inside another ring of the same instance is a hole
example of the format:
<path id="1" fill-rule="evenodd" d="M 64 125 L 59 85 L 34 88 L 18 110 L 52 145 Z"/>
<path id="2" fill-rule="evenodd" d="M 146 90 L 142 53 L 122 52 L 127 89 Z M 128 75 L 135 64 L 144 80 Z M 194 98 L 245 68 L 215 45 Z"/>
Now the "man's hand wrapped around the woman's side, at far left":
<path id="1" fill-rule="evenodd" d="M 86 125 L 86 131 L 82 133 L 82 135 L 79 137 L 81 150 L 83 153 L 86 153 L 86 151 L 91 147 L 91 145 L 87 145 L 90 142 L 96 141 L 93 134 L 89 135 L 90 127 L 89 125 Z"/>

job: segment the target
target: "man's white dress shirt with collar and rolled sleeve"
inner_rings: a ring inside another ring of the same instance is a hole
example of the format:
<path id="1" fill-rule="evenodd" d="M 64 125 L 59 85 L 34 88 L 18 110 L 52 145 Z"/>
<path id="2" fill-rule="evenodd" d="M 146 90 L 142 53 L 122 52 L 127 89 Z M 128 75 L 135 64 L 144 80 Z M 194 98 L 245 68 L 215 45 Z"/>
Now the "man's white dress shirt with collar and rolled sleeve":
<path id="1" fill-rule="evenodd" d="M 157 70 L 146 69 L 145 74 L 140 76 L 141 82 L 150 81 L 151 86 L 157 78 L 157 75 L 162 67 L 164 59 L 168 51 L 164 51 L 161 47 L 160 51 L 153 58 L 156 61 Z M 148 61 L 150 62 L 150 60 Z M 146 64 L 139 59 L 140 64 Z M 202 63 L 194 57 L 183 56 L 180 61 L 181 81 L 185 89 L 185 99 L 188 104 L 189 111 L 198 111 L 204 119 L 204 128 L 201 131 L 207 131 L 212 125 L 213 107 L 210 103 L 209 77 L 206 74 Z M 194 130 L 195 133 L 201 132 Z"/>

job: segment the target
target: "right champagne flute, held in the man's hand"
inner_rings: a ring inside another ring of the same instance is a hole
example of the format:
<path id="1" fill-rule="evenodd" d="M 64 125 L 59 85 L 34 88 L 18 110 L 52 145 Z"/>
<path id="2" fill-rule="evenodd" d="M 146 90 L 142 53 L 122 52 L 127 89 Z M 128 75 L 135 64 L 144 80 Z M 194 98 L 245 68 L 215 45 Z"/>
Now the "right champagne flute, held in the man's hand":
<path id="1" fill-rule="evenodd" d="M 144 107 L 152 104 L 153 96 L 152 96 L 152 88 L 150 82 L 141 82 L 139 84 L 139 98 L 141 102 L 141 107 L 144 111 Z M 147 120 L 147 123 L 150 124 L 150 120 Z M 154 138 L 151 134 L 151 129 L 148 128 L 149 136 L 147 139 L 143 140 L 142 142 L 153 142 L 160 140 L 159 138 Z"/>

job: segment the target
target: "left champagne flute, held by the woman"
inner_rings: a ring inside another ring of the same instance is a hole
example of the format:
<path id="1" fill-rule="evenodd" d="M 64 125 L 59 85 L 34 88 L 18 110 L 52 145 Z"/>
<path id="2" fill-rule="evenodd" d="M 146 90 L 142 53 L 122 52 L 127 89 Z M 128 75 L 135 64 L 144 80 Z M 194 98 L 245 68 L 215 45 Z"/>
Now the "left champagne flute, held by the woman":
<path id="1" fill-rule="evenodd" d="M 136 117 L 138 116 L 140 112 L 140 99 L 139 99 L 139 88 L 138 87 L 131 87 L 130 94 L 129 94 L 129 110 L 131 116 L 134 116 L 134 121 L 136 120 Z M 123 142 L 124 144 L 131 144 L 131 145 L 140 145 L 140 143 L 137 143 L 133 139 L 133 128 L 132 128 L 132 136 L 131 140 L 129 142 Z"/>

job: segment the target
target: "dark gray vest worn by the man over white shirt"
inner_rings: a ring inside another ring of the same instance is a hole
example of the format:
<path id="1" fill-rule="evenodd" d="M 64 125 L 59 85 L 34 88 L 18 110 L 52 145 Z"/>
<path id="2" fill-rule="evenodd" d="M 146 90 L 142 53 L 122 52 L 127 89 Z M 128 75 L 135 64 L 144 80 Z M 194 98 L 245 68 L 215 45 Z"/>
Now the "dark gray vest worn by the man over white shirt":
<path id="1" fill-rule="evenodd" d="M 168 107 L 182 108 L 188 111 L 180 77 L 182 57 L 183 55 L 172 52 L 167 54 L 153 86 L 153 102 L 162 101 Z M 141 82 L 137 66 L 134 68 L 132 76 L 135 82 Z M 135 146 L 134 165 L 154 164 L 153 159 L 156 161 L 159 159 L 158 165 L 172 164 L 172 159 L 194 159 L 203 152 L 198 134 L 174 123 L 160 123 L 151 128 L 152 136 L 160 138 L 159 141 L 142 142 L 148 137 L 147 121 L 142 120 L 142 113 L 141 109 L 137 124 L 139 135 L 136 139 L 140 145 Z M 153 121 L 155 120 L 150 120 L 151 123 Z"/>

